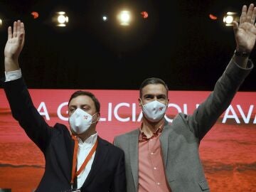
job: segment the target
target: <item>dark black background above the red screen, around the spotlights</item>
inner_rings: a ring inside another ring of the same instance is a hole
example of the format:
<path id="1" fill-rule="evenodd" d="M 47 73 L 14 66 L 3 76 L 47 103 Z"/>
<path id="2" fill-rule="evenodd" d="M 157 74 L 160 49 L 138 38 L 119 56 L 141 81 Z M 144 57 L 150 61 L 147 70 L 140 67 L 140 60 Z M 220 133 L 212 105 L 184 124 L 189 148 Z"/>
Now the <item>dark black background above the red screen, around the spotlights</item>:
<path id="1" fill-rule="evenodd" d="M 145 78 L 163 79 L 170 90 L 212 90 L 235 50 L 227 11 L 253 1 L 240 0 L 91 0 L 0 1 L 0 73 L 4 75 L 6 29 L 21 19 L 26 43 L 20 65 L 29 88 L 137 90 Z M 134 22 L 119 27 L 118 8 L 129 7 Z M 64 10 L 68 27 L 50 23 Z M 38 11 L 34 20 L 31 11 Z M 149 18 L 140 16 L 147 11 Z M 107 14 L 107 22 L 102 21 Z M 209 14 L 218 16 L 210 20 Z M 251 54 L 255 62 L 256 51 Z M 240 90 L 256 91 L 256 70 Z"/>

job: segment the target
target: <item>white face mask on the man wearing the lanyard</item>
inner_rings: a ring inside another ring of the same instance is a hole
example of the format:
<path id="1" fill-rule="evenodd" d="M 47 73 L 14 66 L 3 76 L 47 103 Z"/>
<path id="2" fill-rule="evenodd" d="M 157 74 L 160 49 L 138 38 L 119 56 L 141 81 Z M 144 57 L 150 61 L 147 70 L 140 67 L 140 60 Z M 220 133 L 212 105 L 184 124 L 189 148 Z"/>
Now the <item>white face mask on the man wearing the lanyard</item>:
<path id="1" fill-rule="evenodd" d="M 71 114 L 69 118 L 70 127 L 76 134 L 82 134 L 89 129 L 90 125 L 92 123 L 92 117 L 94 116 L 90 115 L 89 113 L 85 112 L 84 110 L 81 110 L 80 108 L 76 109 L 73 114 Z M 97 121 L 96 121 L 97 122 Z"/>

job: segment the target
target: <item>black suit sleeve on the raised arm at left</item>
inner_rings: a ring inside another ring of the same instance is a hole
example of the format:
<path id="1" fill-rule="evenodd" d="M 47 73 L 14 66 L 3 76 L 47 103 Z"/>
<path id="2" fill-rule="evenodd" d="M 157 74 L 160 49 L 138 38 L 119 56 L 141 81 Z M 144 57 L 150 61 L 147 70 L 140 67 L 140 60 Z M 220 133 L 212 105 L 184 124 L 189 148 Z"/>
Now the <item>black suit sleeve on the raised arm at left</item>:
<path id="1" fill-rule="evenodd" d="M 3 85 L 14 119 L 44 152 L 50 138 L 50 127 L 34 107 L 23 78 L 4 82 Z"/>

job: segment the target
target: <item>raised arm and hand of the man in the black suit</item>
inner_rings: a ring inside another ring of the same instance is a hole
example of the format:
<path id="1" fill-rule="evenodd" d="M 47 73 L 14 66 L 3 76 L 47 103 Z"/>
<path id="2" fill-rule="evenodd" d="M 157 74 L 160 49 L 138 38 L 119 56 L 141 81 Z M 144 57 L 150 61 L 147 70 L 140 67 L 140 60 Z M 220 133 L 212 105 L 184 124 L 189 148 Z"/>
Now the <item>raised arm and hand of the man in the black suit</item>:
<path id="1" fill-rule="evenodd" d="M 18 56 L 21 53 L 25 41 L 25 28 L 21 21 L 14 22 L 14 31 L 8 28 L 8 41 L 4 49 L 4 66 L 6 73 L 15 73 L 19 70 Z M 50 129 L 48 124 L 33 106 L 22 78 L 12 78 L 4 82 L 4 90 L 9 100 L 13 117 L 26 131 L 28 137 L 35 142 L 39 148 L 46 149 Z"/>

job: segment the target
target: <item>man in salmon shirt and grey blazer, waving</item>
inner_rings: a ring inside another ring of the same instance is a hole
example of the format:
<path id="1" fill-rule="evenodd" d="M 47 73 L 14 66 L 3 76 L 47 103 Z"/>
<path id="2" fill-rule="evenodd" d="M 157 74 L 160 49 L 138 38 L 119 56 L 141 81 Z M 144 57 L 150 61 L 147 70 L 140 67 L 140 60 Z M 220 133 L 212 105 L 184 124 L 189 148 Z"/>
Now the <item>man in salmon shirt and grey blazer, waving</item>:
<path id="1" fill-rule="evenodd" d="M 248 9 L 242 7 L 240 23 L 234 22 L 235 54 L 213 92 L 193 114 L 177 114 L 168 124 L 164 119 L 169 102 L 166 83 L 159 78 L 142 82 L 142 124 L 114 139 L 114 144 L 124 150 L 127 191 L 210 191 L 198 147 L 252 70 L 248 58 L 255 46 L 255 17 L 253 4 Z"/>

